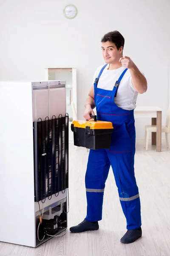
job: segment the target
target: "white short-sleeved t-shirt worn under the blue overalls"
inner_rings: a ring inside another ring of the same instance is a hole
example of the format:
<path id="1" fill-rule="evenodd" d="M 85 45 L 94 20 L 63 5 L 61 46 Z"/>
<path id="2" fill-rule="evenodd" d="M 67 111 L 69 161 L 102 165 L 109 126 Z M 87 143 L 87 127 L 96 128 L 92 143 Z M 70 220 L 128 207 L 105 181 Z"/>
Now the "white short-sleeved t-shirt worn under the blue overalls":
<path id="1" fill-rule="evenodd" d="M 93 84 L 103 66 L 98 67 L 98 69 L 94 73 Z M 116 70 L 108 70 L 108 67 L 109 64 L 103 70 L 102 75 L 99 78 L 97 87 L 105 90 L 113 90 L 116 81 L 119 79 L 123 70 L 125 70 L 125 67 L 120 67 Z M 117 95 L 116 97 L 114 97 L 114 102 L 119 108 L 132 110 L 136 108 L 137 97 L 138 92 L 133 87 L 131 83 L 130 71 L 127 70 L 119 84 Z"/>

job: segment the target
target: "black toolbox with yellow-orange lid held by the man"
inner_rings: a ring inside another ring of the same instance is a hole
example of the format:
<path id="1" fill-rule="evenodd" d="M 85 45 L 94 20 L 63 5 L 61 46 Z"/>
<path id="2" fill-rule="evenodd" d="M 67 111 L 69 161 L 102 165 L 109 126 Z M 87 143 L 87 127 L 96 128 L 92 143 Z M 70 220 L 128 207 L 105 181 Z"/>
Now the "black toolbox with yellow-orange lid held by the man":
<path id="1" fill-rule="evenodd" d="M 74 132 L 74 145 L 90 149 L 109 149 L 111 146 L 112 122 L 94 120 L 73 121 L 71 131 Z"/>

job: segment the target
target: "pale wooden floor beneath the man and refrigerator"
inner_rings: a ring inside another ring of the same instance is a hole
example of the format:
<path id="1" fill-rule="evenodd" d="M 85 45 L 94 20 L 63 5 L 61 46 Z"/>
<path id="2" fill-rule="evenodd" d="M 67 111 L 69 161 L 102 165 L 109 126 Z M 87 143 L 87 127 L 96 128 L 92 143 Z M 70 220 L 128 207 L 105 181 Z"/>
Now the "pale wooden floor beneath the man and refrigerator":
<path id="1" fill-rule="evenodd" d="M 70 145 L 68 227 L 77 225 L 86 215 L 85 148 Z M 142 206 L 143 236 L 133 244 L 122 244 L 126 232 L 125 217 L 119 202 L 112 169 L 106 181 L 103 219 L 99 230 L 70 233 L 53 238 L 38 248 L 0 242 L 0 256 L 170 256 L 170 151 L 165 141 L 162 152 L 136 142 L 136 180 Z"/>

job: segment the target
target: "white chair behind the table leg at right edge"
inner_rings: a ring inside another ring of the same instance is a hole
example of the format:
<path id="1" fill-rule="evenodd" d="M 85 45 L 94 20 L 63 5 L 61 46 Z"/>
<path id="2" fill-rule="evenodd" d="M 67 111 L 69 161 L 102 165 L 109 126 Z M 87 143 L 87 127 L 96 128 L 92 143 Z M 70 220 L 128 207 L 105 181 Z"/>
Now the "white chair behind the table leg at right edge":
<path id="1" fill-rule="evenodd" d="M 167 148 L 170 148 L 170 137 L 169 137 L 169 134 L 170 134 L 170 108 L 167 113 L 166 125 L 162 126 L 161 131 L 165 133 Z M 149 132 L 156 132 L 156 125 L 146 125 L 145 126 L 144 144 L 145 144 L 146 150 L 148 148 L 148 143 L 149 143 Z"/>

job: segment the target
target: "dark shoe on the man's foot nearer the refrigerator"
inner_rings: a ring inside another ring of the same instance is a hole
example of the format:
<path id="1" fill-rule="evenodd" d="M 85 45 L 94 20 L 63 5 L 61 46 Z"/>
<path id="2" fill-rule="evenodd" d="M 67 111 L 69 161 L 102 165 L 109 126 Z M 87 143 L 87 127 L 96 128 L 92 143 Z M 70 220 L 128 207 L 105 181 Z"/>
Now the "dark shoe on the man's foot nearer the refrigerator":
<path id="1" fill-rule="evenodd" d="M 90 222 L 84 219 L 84 221 L 82 221 L 77 226 L 71 227 L 70 231 L 73 233 L 79 233 L 79 232 L 84 232 L 88 230 L 98 230 L 98 229 L 99 229 L 98 221 Z"/>

